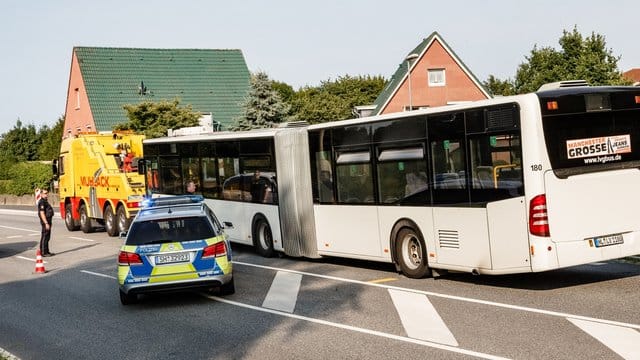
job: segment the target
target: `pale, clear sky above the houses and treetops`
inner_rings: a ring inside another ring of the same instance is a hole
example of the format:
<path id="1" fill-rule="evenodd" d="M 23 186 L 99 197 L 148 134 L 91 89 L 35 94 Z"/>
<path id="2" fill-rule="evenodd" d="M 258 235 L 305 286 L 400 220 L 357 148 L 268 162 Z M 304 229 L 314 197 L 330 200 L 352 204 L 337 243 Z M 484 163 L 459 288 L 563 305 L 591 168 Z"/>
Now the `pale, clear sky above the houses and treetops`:
<path id="1" fill-rule="evenodd" d="M 0 12 L 0 134 L 64 115 L 74 46 L 240 49 L 249 70 L 294 89 L 391 77 L 437 31 L 480 81 L 513 78 L 563 30 L 603 35 L 621 71 L 640 67 L 640 1 L 9 0 Z"/>

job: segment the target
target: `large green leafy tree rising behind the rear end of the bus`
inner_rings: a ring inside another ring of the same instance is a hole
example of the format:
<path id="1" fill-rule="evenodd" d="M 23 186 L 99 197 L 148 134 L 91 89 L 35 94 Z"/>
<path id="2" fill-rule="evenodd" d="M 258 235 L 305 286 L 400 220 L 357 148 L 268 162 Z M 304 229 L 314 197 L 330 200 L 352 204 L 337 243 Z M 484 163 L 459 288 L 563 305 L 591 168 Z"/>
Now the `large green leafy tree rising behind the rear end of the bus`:
<path id="1" fill-rule="evenodd" d="M 619 56 L 606 48 L 604 36 L 591 33 L 583 38 L 576 27 L 563 30 L 560 50 L 534 45 L 526 62 L 520 64 L 514 80 L 493 75 L 484 82 L 494 95 L 513 95 L 537 91 L 541 85 L 563 80 L 586 80 L 590 85 L 628 84 L 618 70 Z"/>

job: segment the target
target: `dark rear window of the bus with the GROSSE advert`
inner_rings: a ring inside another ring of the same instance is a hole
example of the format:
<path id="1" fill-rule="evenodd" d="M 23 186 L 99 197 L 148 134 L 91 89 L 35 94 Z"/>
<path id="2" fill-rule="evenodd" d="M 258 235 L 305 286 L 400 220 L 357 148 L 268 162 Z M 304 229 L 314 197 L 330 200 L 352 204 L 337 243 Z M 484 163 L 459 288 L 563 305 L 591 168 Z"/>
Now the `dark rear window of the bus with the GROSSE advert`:
<path id="1" fill-rule="evenodd" d="M 542 124 L 556 176 L 640 166 L 640 110 L 544 116 Z"/>

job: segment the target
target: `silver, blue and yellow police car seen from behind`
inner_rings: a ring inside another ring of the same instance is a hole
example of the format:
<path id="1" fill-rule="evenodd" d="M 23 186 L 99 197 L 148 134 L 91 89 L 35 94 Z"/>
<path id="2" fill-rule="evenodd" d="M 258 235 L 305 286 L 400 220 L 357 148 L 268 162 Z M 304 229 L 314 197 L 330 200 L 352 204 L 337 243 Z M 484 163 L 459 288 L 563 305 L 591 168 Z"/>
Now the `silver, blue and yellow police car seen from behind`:
<path id="1" fill-rule="evenodd" d="M 150 199 L 123 235 L 126 240 L 118 254 L 123 305 L 152 292 L 235 292 L 227 235 L 202 196 Z"/>

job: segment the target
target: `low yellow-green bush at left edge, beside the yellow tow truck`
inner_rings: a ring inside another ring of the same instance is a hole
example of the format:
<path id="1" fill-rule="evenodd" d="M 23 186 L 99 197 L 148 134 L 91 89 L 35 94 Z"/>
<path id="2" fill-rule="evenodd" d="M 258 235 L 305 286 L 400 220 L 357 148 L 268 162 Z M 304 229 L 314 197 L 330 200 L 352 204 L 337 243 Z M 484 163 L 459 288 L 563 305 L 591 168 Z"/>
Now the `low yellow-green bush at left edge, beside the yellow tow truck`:
<path id="1" fill-rule="evenodd" d="M 13 164 L 7 169 L 9 180 L 0 182 L 0 193 L 22 196 L 32 194 L 35 188 L 51 186 L 51 165 L 30 161 Z"/>

